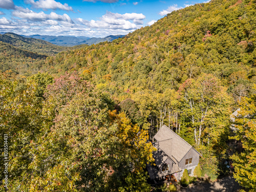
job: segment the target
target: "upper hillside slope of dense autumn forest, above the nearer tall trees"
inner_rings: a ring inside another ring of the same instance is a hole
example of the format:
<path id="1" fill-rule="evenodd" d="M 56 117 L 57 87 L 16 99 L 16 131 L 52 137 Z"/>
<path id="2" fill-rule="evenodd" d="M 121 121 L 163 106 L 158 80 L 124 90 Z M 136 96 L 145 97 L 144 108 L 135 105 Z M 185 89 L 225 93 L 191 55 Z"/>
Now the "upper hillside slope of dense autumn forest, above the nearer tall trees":
<path id="1" fill-rule="evenodd" d="M 44 70 L 89 74 L 119 96 L 127 89 L 177 90 L 186 79 L 211 73 L 235 97 L 237 86 L 246 87 L 247 94 L 256 79 L 255 30 L 255 0 L 212 0 L 174 11 L 113 42 L 49 57 Z"/>

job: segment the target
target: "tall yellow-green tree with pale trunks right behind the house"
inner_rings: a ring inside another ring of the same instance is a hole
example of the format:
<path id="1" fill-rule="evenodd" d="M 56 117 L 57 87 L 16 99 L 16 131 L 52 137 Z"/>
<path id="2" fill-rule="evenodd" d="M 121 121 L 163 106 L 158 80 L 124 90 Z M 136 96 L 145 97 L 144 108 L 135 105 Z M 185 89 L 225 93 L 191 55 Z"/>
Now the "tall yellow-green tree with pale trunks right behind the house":
<path id="1" fill-rule="evenodd" d="M 217 142 L 229 123 L 231 98 L 213 75 L 203 74 L 197 80 L 186 80 L 179 89 L 183 116 L 194 129 L 197 145 L 201 139 Z"/>

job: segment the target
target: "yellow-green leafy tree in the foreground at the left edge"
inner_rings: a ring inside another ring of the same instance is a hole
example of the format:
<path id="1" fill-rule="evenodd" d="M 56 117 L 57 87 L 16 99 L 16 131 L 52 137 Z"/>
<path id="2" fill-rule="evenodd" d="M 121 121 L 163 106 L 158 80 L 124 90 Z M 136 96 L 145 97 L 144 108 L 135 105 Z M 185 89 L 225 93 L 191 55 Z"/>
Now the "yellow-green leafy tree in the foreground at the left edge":
<path id="1" fill-rule="evenodd" d="M 44 99 L 37 95 L 37 86 L 33 80 L 0 79 L 0 138 L 4 140 L 4 135 L 8 136 L 9 191 L 27 190 L 24 183 L 34 176 L 31 164 L 35 161 L 35 149 L 32 143 L 40 140 L 44 124 L 53 120 L 44 113 Z M 4 157 L 3 148 L 1 156 Z"/>

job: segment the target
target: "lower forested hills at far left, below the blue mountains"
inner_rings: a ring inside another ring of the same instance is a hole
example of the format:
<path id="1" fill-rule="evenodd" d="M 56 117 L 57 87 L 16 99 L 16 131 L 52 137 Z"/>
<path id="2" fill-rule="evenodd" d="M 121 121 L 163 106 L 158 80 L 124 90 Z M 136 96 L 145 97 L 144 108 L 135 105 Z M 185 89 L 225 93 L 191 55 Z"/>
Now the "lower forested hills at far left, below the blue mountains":
<path id="1" fill-rule="evenodd" d="M 0 35 L 0 71 L 12 78 L 26 78 L 40 71 L 48 56 L 86 46 L 60 47 L 44 40 L 5 33 Z"/>

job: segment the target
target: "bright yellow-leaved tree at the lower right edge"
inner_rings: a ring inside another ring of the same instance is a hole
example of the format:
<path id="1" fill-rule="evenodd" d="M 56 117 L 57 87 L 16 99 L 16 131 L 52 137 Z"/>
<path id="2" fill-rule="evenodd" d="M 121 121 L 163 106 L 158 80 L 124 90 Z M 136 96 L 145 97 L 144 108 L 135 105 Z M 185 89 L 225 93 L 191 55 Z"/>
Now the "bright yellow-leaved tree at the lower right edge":
<path id="1" fill-rule="evenodd" d="M 239 108 L 235 125 L 238 131 L 233 138 L 242 141 L 244 151 L 231 156 L 234 178 L 241 186 L 253 191 L 256 188 L 256 95 L 242 97 Z"/>

